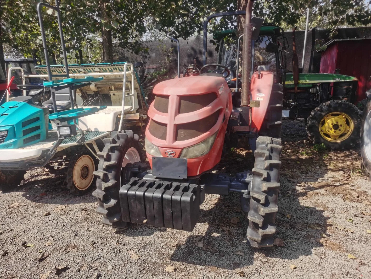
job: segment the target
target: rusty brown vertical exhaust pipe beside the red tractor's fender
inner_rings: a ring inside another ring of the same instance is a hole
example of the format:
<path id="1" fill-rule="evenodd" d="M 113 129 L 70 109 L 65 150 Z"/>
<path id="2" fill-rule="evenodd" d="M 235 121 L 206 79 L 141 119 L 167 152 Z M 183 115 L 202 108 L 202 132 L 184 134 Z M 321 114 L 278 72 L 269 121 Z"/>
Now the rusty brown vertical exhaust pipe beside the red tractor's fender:
<path id="1" fill-rule="evenodd" d="M 253 31 L 253 24 L 251 17 L 253 12 L 253 4 L 255 0 L 249 0 L 246 7 L 245 24 L 243 25 L 243 49 L 242 59 L 244 66 L 242 67 L 242 92 L 241 92 L 241 106 L 247 107 L 250 102 L 250 71 L 251 71 L 251 38 Z"/>

